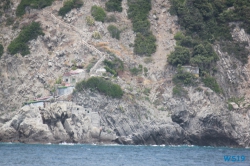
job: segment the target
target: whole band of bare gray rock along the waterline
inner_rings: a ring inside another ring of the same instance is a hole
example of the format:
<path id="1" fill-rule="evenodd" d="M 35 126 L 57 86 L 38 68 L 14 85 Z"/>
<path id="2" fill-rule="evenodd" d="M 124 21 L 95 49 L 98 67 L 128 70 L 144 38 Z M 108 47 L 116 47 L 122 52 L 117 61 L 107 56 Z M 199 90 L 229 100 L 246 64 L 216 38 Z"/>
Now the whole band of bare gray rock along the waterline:
<path id="1" fill-rule="evenodd" d="M 210 97 L 211 102 L 216 99 Z M 85 91 L 73 100 L 46 108 L 24 106 L 12 118 L 5 116 L 0 141 L 250 146 L 250 111 L 242 114 L 214 108 L 215 104 L 195 110 L 190 104 L 198 101 L 183 100 L 172 105 L 171 116 L 165 116 L 126 97 Z"/>

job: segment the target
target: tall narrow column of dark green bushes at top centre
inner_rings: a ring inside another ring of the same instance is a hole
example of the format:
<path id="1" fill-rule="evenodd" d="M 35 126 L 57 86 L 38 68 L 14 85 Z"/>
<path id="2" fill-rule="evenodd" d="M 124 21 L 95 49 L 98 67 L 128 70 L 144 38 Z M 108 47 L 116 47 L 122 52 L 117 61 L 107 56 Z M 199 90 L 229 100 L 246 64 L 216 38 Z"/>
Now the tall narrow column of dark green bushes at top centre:
<path id="1" fill-rule="evenodd" d="M 133 30 L 137 33 L 134 53 L 150 56 L 156 51 L 156 38 L 150 32 L 148 14 L 151 10 L 151 0 L 128 0 L 128 18 L 132 20 Z"/>

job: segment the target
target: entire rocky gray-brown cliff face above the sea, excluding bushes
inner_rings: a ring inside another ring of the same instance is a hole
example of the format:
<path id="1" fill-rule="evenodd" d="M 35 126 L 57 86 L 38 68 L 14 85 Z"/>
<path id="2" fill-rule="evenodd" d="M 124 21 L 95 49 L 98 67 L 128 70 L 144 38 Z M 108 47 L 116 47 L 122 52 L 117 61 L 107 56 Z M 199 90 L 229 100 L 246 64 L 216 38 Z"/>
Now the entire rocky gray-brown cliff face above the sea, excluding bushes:
<path id="1" fill-rule="evenodd" d="M 20 1 L 12 2 L 9 15 Z M 158 47 L 151 58 L 133 54 L 131 44 L 136 34 L 127 18 L 127 0 L 122 1 L 123 12 L 108 13 L 117 19 L 112 24 L 122 30 L 120 40 L 108 33 L 111 23 L 86 23 L 91 6 L 104 7 L 104 1 L 85 1 L 64 18 L 57 15 L 62 5 L 55 1 L 42 10 L 32 9 L 16 19 L 17 29 L 14 24 L 5 26 L 6 15 L 1 18 L 5 53 L 0 57 L 0 141 L 250 146 L 249 62 L 243 65 L 215 44 L 219 56 L 215 77 L 224 94 L 202 83 L 185 87 L 186 97 L 172 94 L 175 68 L 167 63 L 166 55 L 174 49 L 173 36 L 179 25 L 177 17 L 168 12 L 169 1 L 152 0 L 149 21 Z M 29 42 L 31 54 L 8 54 L 8 44 L 32 21 L 41 23 L 45 35 Z M 92 38 L 94 31 L 101 39 Z M 250 42 L 238 24 L 231 34 L 235 41 Z M 34 98 L 52 95 L 56 80 L 74 66 L 87 70 L 95 62 L 87 77 L 96 75 L 110 52 L 125 65 L 118 77 L 106 76 L 122 87 L 125 94 L 121 99 L 85 90 L 45 108 L 23 106 Z M 129 70 L 139 64 L 148 72 L 132 75 Z M 232 97 L 244 99 L 229 102 Z M 230 110 L 229 104 L 233 106 Z"/>

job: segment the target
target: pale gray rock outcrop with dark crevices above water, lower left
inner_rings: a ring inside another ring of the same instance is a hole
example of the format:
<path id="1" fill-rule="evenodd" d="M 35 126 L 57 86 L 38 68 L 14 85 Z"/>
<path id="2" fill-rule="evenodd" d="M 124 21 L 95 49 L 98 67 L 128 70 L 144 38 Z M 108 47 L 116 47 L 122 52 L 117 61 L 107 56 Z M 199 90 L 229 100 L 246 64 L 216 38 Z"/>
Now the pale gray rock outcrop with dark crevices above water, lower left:
<path id="1" fill-rule="evenodd" d="M 73 103 L 53 103 L 46 108 L 24 106 L 0 128 L 0 141 L 18 142 L 111 142 L 112 133 L 103 132 L 99 124 L 93 123 L 94 113 Z M 97 117 L 99 118 L 99 116 Z"/>

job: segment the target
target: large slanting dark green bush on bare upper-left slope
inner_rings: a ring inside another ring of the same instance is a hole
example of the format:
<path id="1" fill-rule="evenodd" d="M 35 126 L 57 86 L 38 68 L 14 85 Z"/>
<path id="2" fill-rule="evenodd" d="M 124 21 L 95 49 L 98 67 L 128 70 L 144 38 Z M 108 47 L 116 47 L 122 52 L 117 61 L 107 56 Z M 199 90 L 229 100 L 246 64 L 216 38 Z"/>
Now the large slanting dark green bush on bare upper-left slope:
<path id="1" fill-rule="evenodd" d="M 32 22 L 30 25 L 24 27 L 19 33 L 18 37 L 15 38 L 8 46 L 10 54 L 21 53 L 21 55 L 29 54 L 28 42 L 32 39 L 36 39 L 39 35 L 44 35 L 40 23 Z"/>

